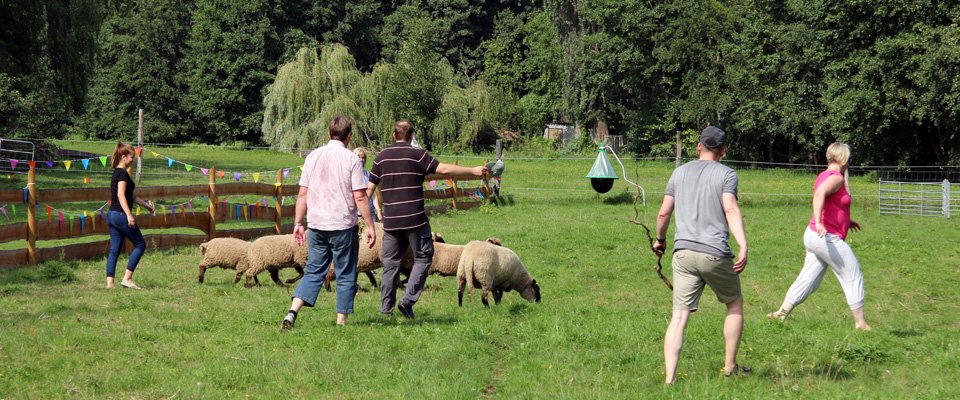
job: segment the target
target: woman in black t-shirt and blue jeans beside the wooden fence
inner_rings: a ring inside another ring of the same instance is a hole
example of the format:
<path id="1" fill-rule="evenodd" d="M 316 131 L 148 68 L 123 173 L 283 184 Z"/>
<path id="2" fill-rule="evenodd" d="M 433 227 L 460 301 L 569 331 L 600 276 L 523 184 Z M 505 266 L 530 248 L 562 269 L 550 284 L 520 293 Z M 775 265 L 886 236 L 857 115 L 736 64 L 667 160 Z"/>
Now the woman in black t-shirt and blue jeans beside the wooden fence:
<path id="1" fill-rule="evenodd" d="M 113 177 L 110 179 L 110 211 L 107 212 L 107 225 L 110 227 L 110 255 L 107 257 L 107 289 L 113 288 L 113 275 L 117 269 L 117 258 L 120 256 L 120 246 L 123 239 L 130 239 L 133 251 L 127 261 L 127 272 L 120 281 L 120 286 L 130 289 L 140 289 L 133 283 L 133 271 L 137 269 L 140 257 L 147 248 L 143 234 L 133 217 L 133 204 L 137 203 L 153 212 L 154 208 L 143 199 L 133 196 L 133 189 L 137 186 L 130 178 L 127 168 L 133 163 L 136 153 L 133 146 L 117 142 L 113 150 Z"/>

